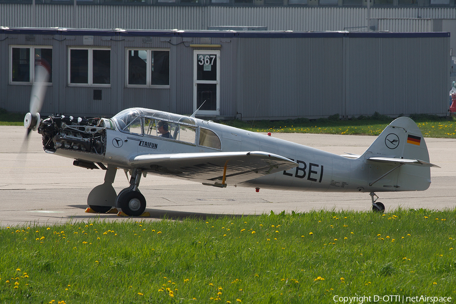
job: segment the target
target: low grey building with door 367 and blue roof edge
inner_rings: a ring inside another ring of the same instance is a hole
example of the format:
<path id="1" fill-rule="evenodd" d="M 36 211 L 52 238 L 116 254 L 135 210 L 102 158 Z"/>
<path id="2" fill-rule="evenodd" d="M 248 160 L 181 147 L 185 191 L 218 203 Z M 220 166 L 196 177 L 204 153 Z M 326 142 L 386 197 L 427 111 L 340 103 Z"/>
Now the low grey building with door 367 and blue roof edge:
<path id="1" fill-rule="evenodd" d="M 444 116 L 449 44 L 448 32 L 2 28 L 0 107 L 28 111 L 40 60 L 52 68 L 43 113 Z"/>

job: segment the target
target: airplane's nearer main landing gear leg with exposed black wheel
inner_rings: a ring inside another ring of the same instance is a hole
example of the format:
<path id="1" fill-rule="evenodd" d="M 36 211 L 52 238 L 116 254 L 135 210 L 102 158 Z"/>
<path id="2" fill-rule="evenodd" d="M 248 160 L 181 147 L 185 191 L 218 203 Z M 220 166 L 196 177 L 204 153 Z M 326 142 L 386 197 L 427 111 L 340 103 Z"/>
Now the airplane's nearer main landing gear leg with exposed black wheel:
<path id="1" fill-rule="evenodd" d="M 141 174 L 141 169 L 134 169 L 130 178 L 130 186 L 123 189 L 116 198 L 115 206 L 130 216 L 141 215 L 146 207 L 145 198 L 138 190 Z"/>

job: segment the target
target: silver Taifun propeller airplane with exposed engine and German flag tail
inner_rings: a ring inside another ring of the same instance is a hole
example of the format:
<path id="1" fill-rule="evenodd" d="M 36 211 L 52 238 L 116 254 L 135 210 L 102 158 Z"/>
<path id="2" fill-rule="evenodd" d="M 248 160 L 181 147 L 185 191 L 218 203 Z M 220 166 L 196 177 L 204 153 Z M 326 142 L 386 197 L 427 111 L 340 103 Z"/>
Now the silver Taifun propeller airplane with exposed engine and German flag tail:
<path id="1" fill-rule="evenodd" d="M 417 125 L 394 120 L 362 155 L 335 155 L 316 148 L 164 111 L 129 108 L 111 119 L 52 115 L 41 119 L 43 85 L 32 90 L 27 135 L 43 136 L 47 153 L 73 165 L 106 170 L 104 183 L 88 196 L 96 212 L 121 208 L 141 215 L 146 200 L 139 182 L 147 173 L 201 182 L 296 191 L 369 193 L 372 210 L 385 210 L 375 192 L 423 191 L 430 183 L 428 149 Z M 438 166 L 436 166 L 438 167 Z M 130 172 L 119 194 L 116 172 Z"/>

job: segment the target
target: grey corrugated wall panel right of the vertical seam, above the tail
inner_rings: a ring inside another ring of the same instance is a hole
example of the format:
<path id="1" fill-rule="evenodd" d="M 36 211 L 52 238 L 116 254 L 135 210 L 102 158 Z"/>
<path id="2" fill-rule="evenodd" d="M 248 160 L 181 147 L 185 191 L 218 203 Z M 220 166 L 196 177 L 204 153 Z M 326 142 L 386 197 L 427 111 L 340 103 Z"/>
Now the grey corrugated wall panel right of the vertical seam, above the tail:
<path id="1" fill-rule="evenodd" d="M 447 43 L 432 38 L 347 39 L 347 113 L 445 113 L 448 56 L 442 50 Z"/>

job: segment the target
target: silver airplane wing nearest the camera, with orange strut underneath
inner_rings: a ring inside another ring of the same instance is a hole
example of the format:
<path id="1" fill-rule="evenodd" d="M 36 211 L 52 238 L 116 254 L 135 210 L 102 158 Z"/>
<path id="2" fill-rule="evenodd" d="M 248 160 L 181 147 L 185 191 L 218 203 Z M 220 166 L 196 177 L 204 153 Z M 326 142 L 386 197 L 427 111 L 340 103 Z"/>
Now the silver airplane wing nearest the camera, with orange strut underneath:
<path id="1" fill-rule="evenodd" d="M 282 156 L 261 152 L 138 155 L 130 164 L 144 171 L 224 187 L 298 166 Z"/>

